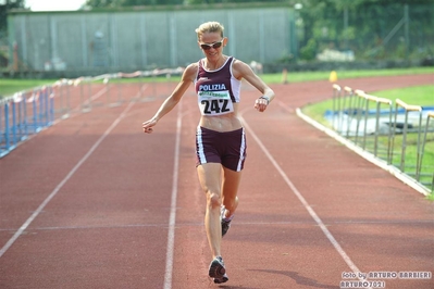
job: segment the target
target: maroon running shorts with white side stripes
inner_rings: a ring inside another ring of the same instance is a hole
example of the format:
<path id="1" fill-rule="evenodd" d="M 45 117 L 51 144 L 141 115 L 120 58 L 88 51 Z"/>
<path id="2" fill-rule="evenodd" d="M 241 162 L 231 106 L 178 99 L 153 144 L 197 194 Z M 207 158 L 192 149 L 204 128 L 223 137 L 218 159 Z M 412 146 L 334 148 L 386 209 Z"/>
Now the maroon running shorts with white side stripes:
<path id="1" fill-rule="evenodd" d="M 220 163 L 224 167 L 239 172 L 246 160 L 246 148 L 244 128 L 220 133 L 198 126 L 196 130 L 196 166 L 206 163 Z"/>

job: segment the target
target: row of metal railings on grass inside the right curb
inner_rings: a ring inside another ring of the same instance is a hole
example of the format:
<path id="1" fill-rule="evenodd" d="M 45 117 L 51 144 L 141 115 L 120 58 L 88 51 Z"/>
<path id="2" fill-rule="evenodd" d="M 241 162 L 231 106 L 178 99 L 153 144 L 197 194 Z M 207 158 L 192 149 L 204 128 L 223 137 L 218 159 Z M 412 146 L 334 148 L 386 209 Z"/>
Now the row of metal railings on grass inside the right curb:
<path id="1" fill-rule="evenodd" d="M 355 146 L 434 189 L 434 108 L 393 101 L 333 85 L 331 126 Z"/>

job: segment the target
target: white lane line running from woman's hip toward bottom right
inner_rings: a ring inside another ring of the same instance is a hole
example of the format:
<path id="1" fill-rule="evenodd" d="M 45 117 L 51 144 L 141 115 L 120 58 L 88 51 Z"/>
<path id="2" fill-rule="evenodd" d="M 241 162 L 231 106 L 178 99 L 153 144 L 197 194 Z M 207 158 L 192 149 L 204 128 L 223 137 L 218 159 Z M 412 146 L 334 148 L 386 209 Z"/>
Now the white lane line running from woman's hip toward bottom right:
<path id="1" fill-rule="evenodd" d="M 315 211 L 309 205 L 309 203 L 306 201 L 306 199 L 302 197 L 302 194 L 298 191 L 296 186 L 289 180 L 288 176 L 285 174 L 285 172 L 282 169 L 282 167 L 277 164 L 277 162 L 274 160 L 274 158 L 271 155 L 269 150 L 265 148 L 265 146 L 262 143 L 262 141 L 258 138 L 258 136 L 255 134 L 255 131 L 250 128 L 250 126 L 247 124 L 247 122 L 240 116 L 241 122 L 244 123 L 244 126 L 247 128 L 249 131 L 249 135 L 253 137 L 256 142 L 259 144 L 261 150 L 265 153 L 265 155 L 269 158 L 270 162 L 274 165 L 274 167 L 277 169 L 277 172 L 281 174 L 282 178 L 285 180 L 285 183 L 289 186 L 289 188 L 293 190 L 293 192 L 296 194 L 298 200 L 303 204 L 306 210 L 309 212 L 311 217 L 315 221 L 315 223 L 320 226 L 321 230 L 324 233 L 325 237 L 331 241 L 333 247 L 336 249 L 336 251 L 339 253 L 339 255 L 344 259 L 344 261 L 347 263 L 347 265 L 351 268 L 354 273 L 359 276 L 359 268 L 356 266 L 356 264 L 351 261 L 351 259 L 345 253 L 344 249 L 342 249 L 340 244 L 336 241 L 336 239 L 333 237 L 333 235 L 330 233 L 327 227 L 324 225 L 324 223 L 321 221 L 321 218 L 317 215 Z"/>

